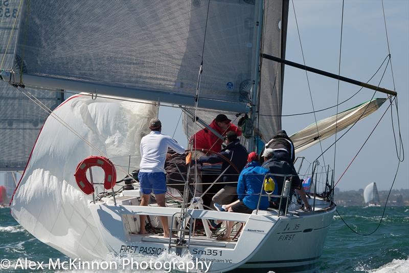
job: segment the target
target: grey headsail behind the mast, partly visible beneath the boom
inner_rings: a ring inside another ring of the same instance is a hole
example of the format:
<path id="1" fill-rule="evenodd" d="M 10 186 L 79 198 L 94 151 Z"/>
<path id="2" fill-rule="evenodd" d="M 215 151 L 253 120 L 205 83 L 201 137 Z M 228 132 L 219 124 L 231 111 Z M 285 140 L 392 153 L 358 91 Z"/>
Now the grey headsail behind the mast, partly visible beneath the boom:
<path id="1" fill-rule="evenodd" d="M 287 37 L 288 1 L 265 1 L 263 5 L 264 17 L 260 52 L 284 58 Z M 257 113 L 254 113 L 258 118 L 254 126 L 258 129 L 262 139 L 268 141 L 275 132 L 281 130 L 280 115 L 282 111 L 284 65 L 266 60 L 260 64 L 260 67 L 259 100 L 253 101 L 255 106 L 259 104 L 258 112 L 260 115 L 257 116 Z M 251 89 L 253 81 L 256 82 L 256 79 L 250 78 L 248 81 L 243 82 L 241 90 Z M 207 110 L 199 110 L 197 112 L 197 116 L 207 123 L 212 122 L 217 114 L 217 112 L 209 112 Z M 238 120 L 233 114 L 226 115 L 233 121 Z M 184 114 L 183 124 L 185 135 L 190 138 L 192 132 L 195 133 L 192 130 L 192 118 Z M 196 131 L 200 129 L 201 127 L 198 125 Z"/>

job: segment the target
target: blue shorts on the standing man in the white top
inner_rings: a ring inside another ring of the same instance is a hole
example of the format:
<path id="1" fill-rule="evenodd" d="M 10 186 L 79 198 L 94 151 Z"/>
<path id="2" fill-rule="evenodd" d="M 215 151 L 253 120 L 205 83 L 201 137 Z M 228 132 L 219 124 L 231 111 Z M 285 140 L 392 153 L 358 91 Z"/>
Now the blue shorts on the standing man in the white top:
<path id="1" fill-rule="evenodd" d="M 143 194 L 165 194 L 166 191 L 166 175 L 162 172 L 138 174 L 141 192 Z"/>

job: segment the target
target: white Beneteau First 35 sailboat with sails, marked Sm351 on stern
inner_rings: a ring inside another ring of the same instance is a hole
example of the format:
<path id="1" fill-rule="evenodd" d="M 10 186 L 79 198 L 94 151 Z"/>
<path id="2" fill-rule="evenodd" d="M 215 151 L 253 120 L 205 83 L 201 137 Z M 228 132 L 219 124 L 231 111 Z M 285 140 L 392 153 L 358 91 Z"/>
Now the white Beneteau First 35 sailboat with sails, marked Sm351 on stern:
<path id="1" fill-rule="evenodd" d="M 252 214 L 209 209 L 203 193 L 190 199 L 186 192 L 198 183 L 183 176 L 184 192 L 169 194 L 167 207 L 140 206 L 139 183 L 131 172 L 139 166 L 141 138 L 159 107 L 183 111 L 188 138 L 201 127 L 209 129 L 215 113 L 232 120 L 247 113 L 242 142 L 248 151 L 257 151 L 256 136 L 266 142 L 281 129 L 288 1 L 20 3 L 15 61 L 2 79 L 50 114 L 11 201 L 22 226 L 72 258 L 171 253 L 212 261 L 210 272 L 317 270 L 336 207 L 329 169 L 319 181 L 317 163 L 312 167 L 312 211 L 282 192 L 278 197 L 291 200 L 289 205 Z M 271 61 L 274 56 L 278 59 Z M 30 86 L 82 93 L 51 111 Z M 320 125 L 329 136 L 338 122 L 347 124 L 344 118 L 353 124 L 383 101 L 369 101 L 341 113 L 335 124 L 330 118 Z M 292 140 L 306 149 L 320 137 L 307 127 Z M 94 167 L 86 173 L 92 183 L 86 195 L 74 173 L 89 156 L 109 160 L 119 181 L 103 185 L 105 173 Z M 296 163 L 301 168 L 303 158 Z M 220 175 L 217 166 L 202 171 Z M 158 217 L 168 217 L 177 238 L 139 235 L 139 215 L 149 215 L 158 230 Z M 236 222 L 234 238 L 217 241 L 210 220 Z"/>

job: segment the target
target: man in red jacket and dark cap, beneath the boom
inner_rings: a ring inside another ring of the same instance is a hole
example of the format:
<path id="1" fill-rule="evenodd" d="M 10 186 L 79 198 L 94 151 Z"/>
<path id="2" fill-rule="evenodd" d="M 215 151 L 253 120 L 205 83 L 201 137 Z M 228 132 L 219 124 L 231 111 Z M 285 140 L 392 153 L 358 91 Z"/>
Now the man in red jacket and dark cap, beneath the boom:
<path id="1" fill-rule="evenodd" d="M 233 131 L 237 136 L 241 136 L 241 130 L 236 127 L 226 115 L 219 114 L 212 123 L 209 124 L 220 135 L 225 136 L 228 132 Z M 193 150 L 206 149 L 220 153 L 223 140 L 218 138 L 207 128 L 198 131 L 192 136 Z"/>

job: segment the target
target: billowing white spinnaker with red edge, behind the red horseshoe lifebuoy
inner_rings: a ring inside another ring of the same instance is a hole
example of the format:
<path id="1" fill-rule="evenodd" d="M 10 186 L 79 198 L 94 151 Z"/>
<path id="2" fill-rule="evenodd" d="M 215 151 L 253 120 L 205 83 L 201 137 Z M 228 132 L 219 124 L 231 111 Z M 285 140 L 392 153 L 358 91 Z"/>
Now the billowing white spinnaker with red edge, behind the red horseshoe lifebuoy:
<path id="1" fill-rule="evenodd" d="M 54 111 L 114 164 L 127 166 L 127 155 L 133 155 L 133 169 L 139 166 L 140 140 L 155 113 L 150 104 L 81 95 Z M 80 192 L 74 178 L 77 164 L 90 155 L 100 154 L 50 116 L 11 203 L 13 217 L 28 232 L 73 258 L 104 258 L 107 253 L 88 208 L 92 197 Z M 118 179 L 123 178 L 121 170 L 127 167 L 116 169 Z M 94 181 L 103 181 L 98 170 L 93 168 Z"/>

